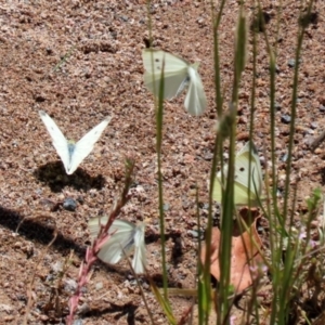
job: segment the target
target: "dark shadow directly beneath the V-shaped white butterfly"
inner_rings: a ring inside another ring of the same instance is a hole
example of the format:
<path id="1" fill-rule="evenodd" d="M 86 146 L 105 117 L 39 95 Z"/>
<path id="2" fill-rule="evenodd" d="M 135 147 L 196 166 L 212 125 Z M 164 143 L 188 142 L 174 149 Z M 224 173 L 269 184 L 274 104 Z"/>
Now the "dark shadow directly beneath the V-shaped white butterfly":
<path id="1" fill-rule="evenodd" d="M 73 174 L 66 174 L 61 161 L 48 162 L 39 167 L 34 176 L 40 182 L 46 183 L 54 193 L 62 192 L 65 186 L 84 192 L 92 188 L 101 190 L 105 184 L 105 178 L 102 174 L 91 177 L 81 168 L 78 168 Z"/>

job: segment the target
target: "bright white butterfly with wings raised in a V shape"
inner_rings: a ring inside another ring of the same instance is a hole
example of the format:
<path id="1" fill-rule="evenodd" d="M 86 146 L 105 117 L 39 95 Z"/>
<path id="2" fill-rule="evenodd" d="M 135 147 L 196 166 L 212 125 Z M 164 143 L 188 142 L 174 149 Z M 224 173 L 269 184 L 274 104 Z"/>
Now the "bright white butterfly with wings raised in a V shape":
<path id="1" fill-rule="evenodd" d="M 91 153 L 94 144 L 112 119 L 110 117 L 106 117 L 77 143 L 74 143 L 65 139 L 54 120 L 46 112 L 39 110 L 39 115 L 52 138 L 52 143 L 67 174 L 74 173 L 82 160 Z"/>

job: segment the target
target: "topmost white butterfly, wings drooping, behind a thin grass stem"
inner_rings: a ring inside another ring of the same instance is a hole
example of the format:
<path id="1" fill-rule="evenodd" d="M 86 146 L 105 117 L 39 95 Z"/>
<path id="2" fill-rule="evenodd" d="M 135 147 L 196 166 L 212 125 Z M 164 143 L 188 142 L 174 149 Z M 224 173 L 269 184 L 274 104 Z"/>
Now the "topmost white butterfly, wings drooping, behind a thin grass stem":
<path id="1" fill-rule="evenodd" d="M 179 95 L 188 83 L 184 106 L 194 116 L 202 115 L 207 107 L 207 98 L 200 77 L 198 63 L 186 61 L 160 50 L 142 51 L 144 84 L 156 98 L 159 96 L 161 72 L 164 68 L 164 99 L 170 100 Z"/>

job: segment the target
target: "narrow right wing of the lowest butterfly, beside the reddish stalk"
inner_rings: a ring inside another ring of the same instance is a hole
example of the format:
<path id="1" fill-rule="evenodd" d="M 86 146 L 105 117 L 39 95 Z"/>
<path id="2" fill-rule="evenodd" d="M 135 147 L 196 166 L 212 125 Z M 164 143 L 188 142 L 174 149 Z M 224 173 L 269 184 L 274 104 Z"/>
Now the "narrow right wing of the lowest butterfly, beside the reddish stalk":
<path id="1" fill-rule="evenodd" d="M 134 256 L 132 260 L 132 268 L 136 274 L 144 273 L 146 265 L 145 243 L 144 243 L 145 224 L 141 223 L 136 226 L 134 233 Z"/>

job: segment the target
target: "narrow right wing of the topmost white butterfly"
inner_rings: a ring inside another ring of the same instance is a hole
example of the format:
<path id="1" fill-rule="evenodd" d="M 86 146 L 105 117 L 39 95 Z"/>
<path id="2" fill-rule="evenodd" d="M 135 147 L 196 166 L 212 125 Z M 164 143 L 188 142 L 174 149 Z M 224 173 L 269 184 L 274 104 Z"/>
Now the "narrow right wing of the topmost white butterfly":
<path id="1" fill-rule="evenodd" d="M 206 93 L 195 66 L 190 66 L 187 73 L 190 76 L 190 86 L 184 105 L 191 115 L 199 116 L 207 107 Z"/>

